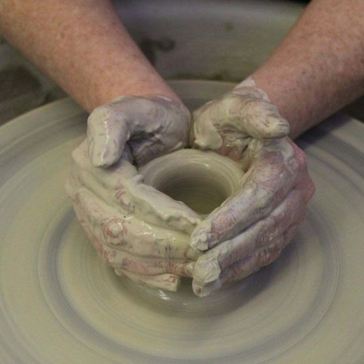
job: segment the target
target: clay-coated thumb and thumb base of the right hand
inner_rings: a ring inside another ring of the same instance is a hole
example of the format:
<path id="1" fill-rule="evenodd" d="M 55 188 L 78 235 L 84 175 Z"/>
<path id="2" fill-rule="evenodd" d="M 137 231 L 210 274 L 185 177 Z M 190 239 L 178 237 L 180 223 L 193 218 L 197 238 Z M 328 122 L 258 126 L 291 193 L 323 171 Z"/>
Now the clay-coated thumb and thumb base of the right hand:
<path id="1" fill-rule="evenodd" d="M 200 149 L 244 149 L 246 138 L 281 138 L 289 124 L 277 107 L 254 94 L 230 93 L 193 113 L 194 144 Z M 190 137 L 191 137 L 190 136 Z"/>

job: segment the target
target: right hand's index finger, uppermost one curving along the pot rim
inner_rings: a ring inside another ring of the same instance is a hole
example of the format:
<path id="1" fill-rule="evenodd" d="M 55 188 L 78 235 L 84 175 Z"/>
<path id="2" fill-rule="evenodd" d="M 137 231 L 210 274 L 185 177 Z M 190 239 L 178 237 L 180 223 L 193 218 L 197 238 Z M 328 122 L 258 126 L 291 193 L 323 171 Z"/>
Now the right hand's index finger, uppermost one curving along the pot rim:
<path id="1" fill-rule="evenodd" d="M 297 183 L 298 166 L 292 147 L 280 140 L 283 151 L 280 146 L 266 150 L 264 143 L 256 142 L 262 146 L 262 155 L 253 160 L 241 189 L 196 227 L 191 235 L 193 248 L 207 250 L 237 236 L 268 215 Z"/>

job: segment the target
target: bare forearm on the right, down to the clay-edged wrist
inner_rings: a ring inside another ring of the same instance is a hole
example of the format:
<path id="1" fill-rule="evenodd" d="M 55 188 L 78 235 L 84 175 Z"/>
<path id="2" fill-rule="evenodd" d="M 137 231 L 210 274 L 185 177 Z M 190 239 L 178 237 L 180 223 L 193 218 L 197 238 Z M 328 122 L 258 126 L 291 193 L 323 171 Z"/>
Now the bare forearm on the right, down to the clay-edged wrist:
<path id="1" fill-rule="evenodd" d="M 364 94 L 364 1 L 313 0 L 254 74 L 291 136 Z"/>

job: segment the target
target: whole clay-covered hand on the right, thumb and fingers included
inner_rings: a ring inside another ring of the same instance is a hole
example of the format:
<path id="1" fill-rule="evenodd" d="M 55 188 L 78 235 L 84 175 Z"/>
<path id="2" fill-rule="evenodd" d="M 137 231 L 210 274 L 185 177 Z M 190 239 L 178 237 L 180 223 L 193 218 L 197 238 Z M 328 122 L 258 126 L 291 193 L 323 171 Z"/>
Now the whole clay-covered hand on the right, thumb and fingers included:
<path id="1" fill-rule="evenodd" d="M 314 192 L 304 152 L 289 124 L 252 80 L 194 112 L 191 140 L 241 163 L 241 189 L 194 230 L 204 251 L 193 289 L 208 296 L 268 265 L 292 240 Z"/>

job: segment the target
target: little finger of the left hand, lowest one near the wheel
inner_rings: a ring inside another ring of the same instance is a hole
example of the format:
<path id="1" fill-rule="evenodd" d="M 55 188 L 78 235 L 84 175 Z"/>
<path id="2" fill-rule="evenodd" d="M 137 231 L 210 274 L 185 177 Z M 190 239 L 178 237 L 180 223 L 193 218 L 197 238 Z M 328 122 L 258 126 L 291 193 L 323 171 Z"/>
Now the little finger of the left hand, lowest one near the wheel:
<path id="1" fill-rule="evenodd" d="M 144 276 L 135 274 L 127 270 L 115 269 L 115 273 L 120 277 L 127 277 L 131 281 L 144 284 L 151 288 L 159 288 L 171 292 L 177 292 L 181 285 L 181 278 L 175 274 L 158 274 L 157 276 Z"/>

